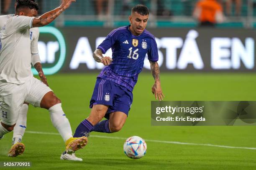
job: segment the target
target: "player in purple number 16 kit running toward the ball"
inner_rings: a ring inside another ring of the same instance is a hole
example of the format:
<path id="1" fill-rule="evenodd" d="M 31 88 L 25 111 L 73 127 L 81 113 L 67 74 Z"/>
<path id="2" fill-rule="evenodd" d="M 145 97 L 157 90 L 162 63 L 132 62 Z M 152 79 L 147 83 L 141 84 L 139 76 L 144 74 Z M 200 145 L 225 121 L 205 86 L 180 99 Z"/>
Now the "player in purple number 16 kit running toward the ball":
<path id="1" fill-rule="evenodd" d="M 133 102 L 132 91 L 143 68 L 146 54 L 155 80 L 152 93 L 156 100 L 163 100 L 156 40 L 145 30 L 148 15 L 146 6 L 134 6 L 129 16 L 131 25 L 110 32 L 93 53 L 94 59 L 102 62 L 105 67 L 97 76 L 90 100 L 90 116 L 78 125 L 74 137 L 89 136 L 92 131 L 114 133 L 121 130 Z M 113 52 L 112 59 L 103 57 L 102 54 L 110 47 Z M 107 120 L 102 120 L 103 117 Z"/>

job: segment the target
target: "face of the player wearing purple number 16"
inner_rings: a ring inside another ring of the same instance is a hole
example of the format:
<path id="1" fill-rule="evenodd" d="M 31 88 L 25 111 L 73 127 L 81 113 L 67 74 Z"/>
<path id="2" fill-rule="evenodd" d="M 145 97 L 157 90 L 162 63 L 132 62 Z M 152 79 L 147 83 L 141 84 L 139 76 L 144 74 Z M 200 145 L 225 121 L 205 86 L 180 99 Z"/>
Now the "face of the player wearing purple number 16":
<path id="1" fill-rule="evenodd" d="M 133 35 L 141 35 L 148 24 L 148 15 L 143 16 L 135 12 L 129 16 L 129 20 L 131 23 L 130 29 Z"/>

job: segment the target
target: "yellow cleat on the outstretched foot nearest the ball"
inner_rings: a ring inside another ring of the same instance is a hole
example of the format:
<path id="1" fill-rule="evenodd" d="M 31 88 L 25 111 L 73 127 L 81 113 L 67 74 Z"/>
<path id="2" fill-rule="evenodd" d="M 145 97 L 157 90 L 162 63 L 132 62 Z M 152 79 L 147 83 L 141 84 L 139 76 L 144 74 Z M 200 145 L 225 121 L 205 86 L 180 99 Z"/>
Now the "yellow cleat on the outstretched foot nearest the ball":
<path id="1" fill-rule="evenodd" d="M 69 138 L 66 141 L 66 152 L 72 154 L 74 151 L 84 148 L 86 144 L 87 138 L 85 136 L 81 138 Z"/>

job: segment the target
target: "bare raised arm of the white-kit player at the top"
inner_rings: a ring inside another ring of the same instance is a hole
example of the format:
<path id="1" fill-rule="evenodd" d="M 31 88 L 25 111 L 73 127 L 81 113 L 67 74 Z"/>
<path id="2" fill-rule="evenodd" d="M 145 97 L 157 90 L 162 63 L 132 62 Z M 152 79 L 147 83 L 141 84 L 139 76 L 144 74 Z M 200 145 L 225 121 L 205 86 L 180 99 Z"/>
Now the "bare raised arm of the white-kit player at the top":
<path id="1" fill-rule="evenodd" d="M 72 2 L 76 0 L 62 0 L 61 5 L 54 10 L 44 13 L 40 17 L 33 19 L 33 27 L 43 27 L 51 23 L 55 18 L 57 18 L 64 10 L 66 10 Z"/>

